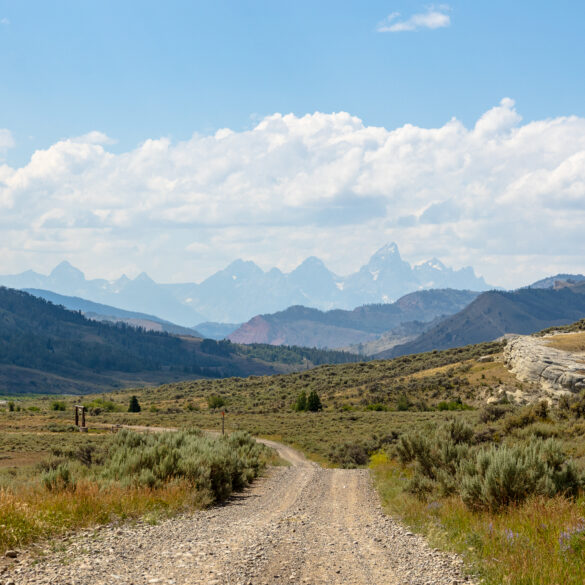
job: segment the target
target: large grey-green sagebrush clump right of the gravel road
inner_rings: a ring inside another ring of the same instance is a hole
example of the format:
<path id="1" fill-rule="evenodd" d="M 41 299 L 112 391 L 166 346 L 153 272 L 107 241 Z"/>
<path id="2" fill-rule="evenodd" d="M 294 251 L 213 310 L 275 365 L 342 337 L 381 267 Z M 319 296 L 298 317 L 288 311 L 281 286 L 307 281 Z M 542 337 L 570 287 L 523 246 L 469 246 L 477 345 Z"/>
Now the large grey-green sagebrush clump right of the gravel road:
<path id="1" fill-rule="evenodd" d="M 574 497 L 582 485 L 554 439 L 530 434 L 528 443 L 488 447 L 474 439 L 471 427 L 457 420 L 402 435 L 396 454 L 413 472 L 406 489 L 421 499 L 458 493 L 470 508 L 497 510 L 532 495 Z"/>

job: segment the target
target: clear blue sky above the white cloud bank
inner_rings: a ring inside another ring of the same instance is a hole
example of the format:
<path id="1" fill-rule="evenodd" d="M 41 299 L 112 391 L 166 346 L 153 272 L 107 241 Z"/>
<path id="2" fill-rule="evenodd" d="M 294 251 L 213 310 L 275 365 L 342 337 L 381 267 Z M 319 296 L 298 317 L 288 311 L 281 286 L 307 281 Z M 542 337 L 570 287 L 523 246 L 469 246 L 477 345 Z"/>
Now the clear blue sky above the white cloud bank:
<path id="1" fill-rule="evenodd" d="M 451 2 L 448 27 L 376 31 L 388 14 L 428 7 L 2 1 L 0 127 L 16 141 L 8 160 L 91 130 L 125 150 L 248 128 L 274 112 L 428 127 L 453 116 L 473 123 L 511 96 L 524 120 L 585 114 L 585 4 Z"/>

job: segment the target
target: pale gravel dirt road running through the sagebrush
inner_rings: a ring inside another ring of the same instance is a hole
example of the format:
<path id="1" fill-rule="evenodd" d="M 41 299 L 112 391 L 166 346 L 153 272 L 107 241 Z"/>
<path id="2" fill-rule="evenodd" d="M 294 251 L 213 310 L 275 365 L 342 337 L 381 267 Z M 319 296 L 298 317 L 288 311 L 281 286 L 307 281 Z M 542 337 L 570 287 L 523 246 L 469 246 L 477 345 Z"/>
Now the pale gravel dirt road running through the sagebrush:
<path id="1" fill-rule="evenodd" d="M 272 469 L 226 505 L 159 525 L 74 535 L 40 562 L 22 558 L 16 585 L 453 585 L 461 560 L 431 549 L 386 516 L 366 470 L 323 469 L 277 449 Z"/>

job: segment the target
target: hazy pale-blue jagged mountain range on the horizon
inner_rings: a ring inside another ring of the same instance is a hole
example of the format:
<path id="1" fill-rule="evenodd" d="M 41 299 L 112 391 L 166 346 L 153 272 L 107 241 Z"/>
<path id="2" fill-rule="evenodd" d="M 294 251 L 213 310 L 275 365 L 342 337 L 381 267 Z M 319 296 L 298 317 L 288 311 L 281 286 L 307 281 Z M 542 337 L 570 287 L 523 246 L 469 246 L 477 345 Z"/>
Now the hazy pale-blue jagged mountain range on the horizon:
<path id="1" fill-rule="evenodd" d="M 294 305 L 348 310 L 388 303 L 416 290 L 490 288 L 472 268 L 453 270 L 437 259 L 411 266 L 394 243 L 380 248 L 365 266 L 346 277 L 334 274 L 315 257 L 290 273 L 278 268 L 264 272 L 254 262 L 236 260 L 200 284 L 157 284 L 145 273 L 134 279 L 123 275 L 114 281 L 87 280 L 80 270 L 62 262 L 48 276 L 31 270 L 0 276 L 0 285 L 81 297 L 185 327 L 207 321 L 242 323 Z"/>

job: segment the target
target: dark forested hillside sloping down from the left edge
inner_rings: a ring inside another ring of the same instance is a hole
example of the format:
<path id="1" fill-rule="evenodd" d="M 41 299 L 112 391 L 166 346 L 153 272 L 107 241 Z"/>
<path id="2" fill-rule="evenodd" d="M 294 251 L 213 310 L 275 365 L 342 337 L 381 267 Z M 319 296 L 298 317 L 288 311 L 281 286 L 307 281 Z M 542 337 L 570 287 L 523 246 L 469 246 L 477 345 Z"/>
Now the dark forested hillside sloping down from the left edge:
<path id="1" fill-rule="evenodd" d="M 274 374 L 352 359 L 340 352 L 244 348 L 93 321 L 0 287 L 0 394 L 79 394 L 197 377 Z"/>

